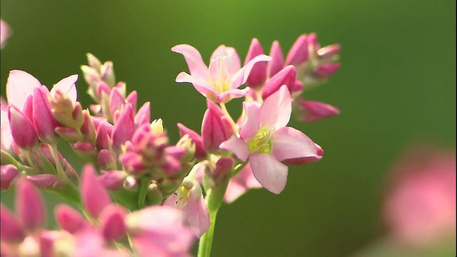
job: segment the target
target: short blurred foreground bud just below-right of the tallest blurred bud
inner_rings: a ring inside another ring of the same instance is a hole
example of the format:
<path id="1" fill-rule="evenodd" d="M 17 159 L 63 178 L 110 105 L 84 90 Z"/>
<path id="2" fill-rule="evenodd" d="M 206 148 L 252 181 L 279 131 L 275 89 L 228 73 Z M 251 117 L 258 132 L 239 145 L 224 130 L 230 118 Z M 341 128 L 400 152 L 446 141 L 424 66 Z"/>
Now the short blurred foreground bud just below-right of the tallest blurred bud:
<path id="1" fill-rule="evenodd" d="M 100 213 L 101 233 L 103 233 L 106 241 L 115 241 L 126 236 L 125 216 L 126 211 L 124 208 L 114 204 L 106 206 Z"/>

